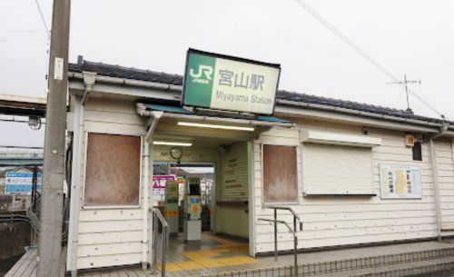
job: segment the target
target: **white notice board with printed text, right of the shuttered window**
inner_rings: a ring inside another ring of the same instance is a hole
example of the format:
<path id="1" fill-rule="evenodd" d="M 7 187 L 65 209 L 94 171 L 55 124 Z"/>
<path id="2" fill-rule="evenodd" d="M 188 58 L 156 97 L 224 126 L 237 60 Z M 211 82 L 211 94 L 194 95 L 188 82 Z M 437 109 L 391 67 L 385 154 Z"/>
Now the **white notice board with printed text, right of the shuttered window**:
<path id="1" fill-rule="evenodd" d="M 421 170 L 418 166 L 380 164 L 381 199 L 422 198 Z"/>

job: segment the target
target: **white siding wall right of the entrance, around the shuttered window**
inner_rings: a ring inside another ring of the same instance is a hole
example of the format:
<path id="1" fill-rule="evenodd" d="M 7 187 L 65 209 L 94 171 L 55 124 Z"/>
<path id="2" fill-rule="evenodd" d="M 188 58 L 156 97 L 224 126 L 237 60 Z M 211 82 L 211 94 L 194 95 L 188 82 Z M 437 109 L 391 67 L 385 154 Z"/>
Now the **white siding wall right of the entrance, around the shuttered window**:
<path id="1" fill-rule="evenodd" d="M 323 124 L 320 122 L 300 122 L 298 128 L 289 130 L 272 128 L 261 135 L 254 147 L 254 187 L 255 203 L 255 240 L 256 252 L 273 250 L 273 228 L 267 223 L 257 222 L 257 218 L 271 218 L 271 210 L 262 209 L 262 153 L 260 143 L 299 143 L 298 129 L 305 128 L 325 132 L 360 135 L 362 128 Z M 299 247 L 312 248 L 367 242 L 388 242 L 437 236 L 433 178 L 429 156 L 429 143 L 423 143 L 423 161 L 412 160 L 410 147 L 404 144 L 404 133 L 371 129 L 370 136 L 382 138 L 382 144 L 372 149 L 373 191 L 376 197 L 303 197 L 300 183 L 300 203 L 291 207 L 301 215 L 304 231 L 299 233 Z M 443 187 L 441 192 L 444 219 L 453 221 L 454 181 L 452 151 L 450 144 L 437 142 L 439 155 L 439 178 Z M 301 147 L 300 147 L 301 148 Z M 303 153 L 302 153 L 303 154 Z M 441 158 L 443 156 L 443 158 Z M 449 160 L 450 159 L 450 160 Z M 420 200 L 381 200 L 380 163 L 403 163 L 421 168 L 422 199 Z M 301 168 L 301 151 L 298 159 Z M 351 170 L 354 170 L 352 168 Z M 300 175 L 300 180 L 302 180 Z M 282 212 L 279 217 L 291 223 L 291 215 Z M 285 227 L 280 226 L 279 249 L 292 248 L 292 237 Z"/>

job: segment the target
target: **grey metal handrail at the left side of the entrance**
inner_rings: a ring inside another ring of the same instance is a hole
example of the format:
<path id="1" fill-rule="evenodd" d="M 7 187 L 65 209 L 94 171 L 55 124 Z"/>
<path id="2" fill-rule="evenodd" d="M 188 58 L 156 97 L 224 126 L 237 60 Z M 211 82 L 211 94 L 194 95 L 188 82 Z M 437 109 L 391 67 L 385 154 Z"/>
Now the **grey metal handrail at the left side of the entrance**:
<path id="1" fill-rule="evenodd" d="M 163 213 L 157 208 L 150 209 L 153 215 L 153 272 L 157 272 L 157 253 L 158 253 L 158 221 L 163 225 L 161 276 L 165 277 L 165 255 L 169 247 L 169 224 L 165 221 Z"/>

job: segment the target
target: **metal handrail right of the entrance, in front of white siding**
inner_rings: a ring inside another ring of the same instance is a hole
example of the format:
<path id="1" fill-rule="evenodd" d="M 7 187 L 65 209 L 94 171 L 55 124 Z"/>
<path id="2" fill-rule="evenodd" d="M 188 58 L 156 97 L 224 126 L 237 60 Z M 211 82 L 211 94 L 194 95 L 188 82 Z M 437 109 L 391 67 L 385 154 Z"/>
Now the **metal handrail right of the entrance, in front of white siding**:
<path id="1" fill-rule="evenodd" d="M 302 231 L 302 221 L 300 216 L 291 209 L 291 207 L 283 207 L 283 206 L 269 206 L 269 205 L 264 205 L 262 207 L 263 209 L 272 209 L 274 210 L 274 219 L 267 219 L 267 218 L 259 218 L 257 220 L 262 221 L 262 222 L 268 222 L 268 223 L 274 223 L 274 260 L 278 260 L 278 224 L 283 224 L 284 226 L 289 229 L 289 232 L 293 234 L 293 256 L 294 256 L 294 271 L 295 271 L 295 277 L 298 277 L 298 229 Z M 289 223 L 286 223 L 285 221 L 278 220 L 278 210 L 285 210 L 289 211 L 293 215 L 293 229 L 291 229 L 291 226 Z M 299 224 L 297 224 L 297 221 Z M 297 226 L 299 228 L 297 228 Z"/>

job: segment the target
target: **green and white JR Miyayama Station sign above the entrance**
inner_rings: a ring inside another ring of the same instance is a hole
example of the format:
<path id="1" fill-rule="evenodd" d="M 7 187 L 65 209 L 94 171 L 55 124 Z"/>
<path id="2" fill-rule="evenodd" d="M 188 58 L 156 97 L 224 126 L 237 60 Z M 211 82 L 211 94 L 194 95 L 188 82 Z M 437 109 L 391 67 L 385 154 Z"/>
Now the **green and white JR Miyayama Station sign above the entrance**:
<path id="1" fill-rule="evenodd" d="M 252 114 L 272 114 L 280 64 L 267 64 L 190 49 L 183 105 Z"/>

